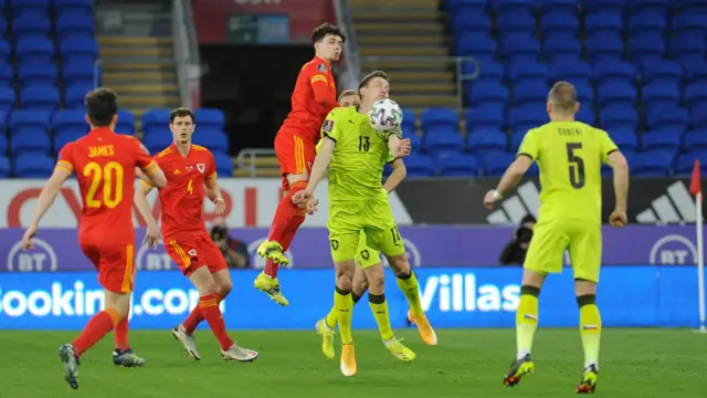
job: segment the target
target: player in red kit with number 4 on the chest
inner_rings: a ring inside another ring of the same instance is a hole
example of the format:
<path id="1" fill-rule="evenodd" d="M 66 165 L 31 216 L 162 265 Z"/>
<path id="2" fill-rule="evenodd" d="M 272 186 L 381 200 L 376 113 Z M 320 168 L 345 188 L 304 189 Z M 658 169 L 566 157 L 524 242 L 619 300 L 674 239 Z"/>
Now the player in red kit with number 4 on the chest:
<path id="1" fill-rule="evenodd" d="M 213 154 L 191 144 L 194 128 L 191 109 L 181 107 L 172 111 L 169 129 L 175 142 L 155 157 L 167 175 L 167 186 L 159 189 L 165 247 L 200 296 L 199 305 L 184 322 L 175 326 L 172 336 L 182 343 L 189 356 L 199 360 L 201 357 L 193 331 L 201 321 L 207 320 L 226 360 L 252 362 L 258 354 L 233 343 L 219 308 L 219 303 L 231 292 L 233 284 L 225 260 L 211 240 L 203 221 L 204 185 L 205 195 L 215 206 L 215 213 L 223 212 L 225 202 L 217 182 Z M 149 181 L 143 180 L 135 192 L 135 203 L 148 226 L 145 239 L 149 247 L 156 247 L 161 234 L 147 202 L 151 189 Z"/>

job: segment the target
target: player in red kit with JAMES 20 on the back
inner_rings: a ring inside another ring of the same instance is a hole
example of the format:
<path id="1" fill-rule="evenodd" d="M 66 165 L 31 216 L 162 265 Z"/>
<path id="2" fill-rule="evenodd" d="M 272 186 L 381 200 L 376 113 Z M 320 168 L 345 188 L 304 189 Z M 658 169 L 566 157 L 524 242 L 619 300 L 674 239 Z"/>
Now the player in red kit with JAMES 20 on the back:
<path id="1" fill-rule="evenodd" d="M 54 202 L 62 184 L 75 174 L 83 200 L 78 243 L 98 270 L 98 282 L 105 290 L 105 310 L 88 321 L 75 341 L 59 348 L 64 378 L 74 389 L 78 388 L 78 358 L 112 329 L 115 329 L 116 344 L 124 344 L 123 349 L 116 350 L 120 350 L 118 354 L 125 360 L 116 364 L 144 364 L 141 358 L 124 355 L 129 352 L 128 312 L 135 283 L 135 230 L 130 199 L 136 167 L 151 184 L 158 187 L 167 184 L 162 170 L 137 139 L 114 133 L 118 104 L 113 91 L 97 88 L 86 95 L 85 104 L 91 133 L 61 149 L 54 172 L 39 196 L 32 222 L 22 238 L 22 248 L 32 249 L 32 238 L 40 220 Z"/>

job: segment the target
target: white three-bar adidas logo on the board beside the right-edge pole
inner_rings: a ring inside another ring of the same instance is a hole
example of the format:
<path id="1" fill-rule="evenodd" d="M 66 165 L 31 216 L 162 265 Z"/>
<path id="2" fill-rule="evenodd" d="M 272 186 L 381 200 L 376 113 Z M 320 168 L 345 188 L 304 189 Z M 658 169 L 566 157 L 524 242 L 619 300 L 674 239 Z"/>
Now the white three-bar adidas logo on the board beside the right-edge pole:
<path id="1" fill-rule="evenodd" d="M 695 222 L 695 202 L 683 181 L 667 187 L 667 193 L 651 202 L 651 208 L 636 216 L 639 223 Z"/>

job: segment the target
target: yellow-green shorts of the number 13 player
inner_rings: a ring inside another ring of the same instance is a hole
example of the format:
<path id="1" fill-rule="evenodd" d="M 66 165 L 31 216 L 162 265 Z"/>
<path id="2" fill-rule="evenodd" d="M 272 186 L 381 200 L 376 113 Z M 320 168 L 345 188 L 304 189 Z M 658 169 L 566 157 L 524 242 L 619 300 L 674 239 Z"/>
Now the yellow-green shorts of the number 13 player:
<path id="1" fill-rule="evenodd" d="M 405 253 L 388 198 L 371 199 L 362 203 L 330 203 L 327 227 L 331 259 L 336 262 L 355 260 L 360 254 L 359 243 L 388 256 Z M 369 253 L 369 260 L 377 258 L 370 254 L 378 253 Z"/>

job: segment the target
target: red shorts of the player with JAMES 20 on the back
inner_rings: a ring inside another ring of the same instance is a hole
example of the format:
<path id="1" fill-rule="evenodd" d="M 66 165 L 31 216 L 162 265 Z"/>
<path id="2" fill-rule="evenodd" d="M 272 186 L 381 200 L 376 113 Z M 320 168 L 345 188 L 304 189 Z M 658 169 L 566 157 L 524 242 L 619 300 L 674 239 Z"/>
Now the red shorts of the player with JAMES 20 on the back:
<path id="1" fill-rule="evenodd" d="M 135 247 L 133 244 L 81 244 L 81 250 L 98 270 L 103 289 L 114 293 L 133 292 Z"/>

